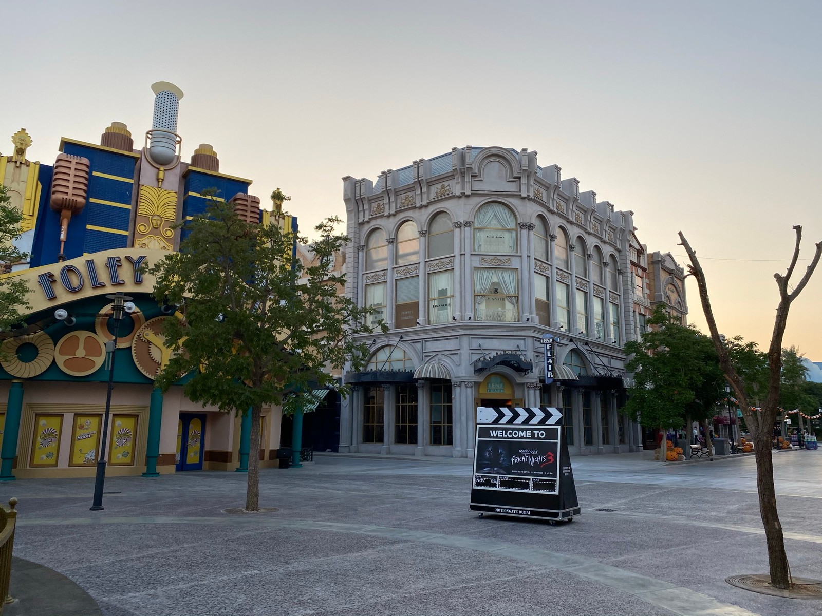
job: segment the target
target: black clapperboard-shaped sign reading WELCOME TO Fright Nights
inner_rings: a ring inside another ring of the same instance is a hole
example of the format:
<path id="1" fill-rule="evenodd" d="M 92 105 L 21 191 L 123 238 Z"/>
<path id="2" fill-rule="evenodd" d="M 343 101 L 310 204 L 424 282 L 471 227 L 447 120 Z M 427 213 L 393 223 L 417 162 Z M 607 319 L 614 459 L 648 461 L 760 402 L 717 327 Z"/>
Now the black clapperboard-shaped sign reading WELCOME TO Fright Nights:
<path id="1" fill-rule="evenodd" d="M 549 520 L 580 515 L 561 421 L 554 407 L 478 407 L 470 508 Z"/>

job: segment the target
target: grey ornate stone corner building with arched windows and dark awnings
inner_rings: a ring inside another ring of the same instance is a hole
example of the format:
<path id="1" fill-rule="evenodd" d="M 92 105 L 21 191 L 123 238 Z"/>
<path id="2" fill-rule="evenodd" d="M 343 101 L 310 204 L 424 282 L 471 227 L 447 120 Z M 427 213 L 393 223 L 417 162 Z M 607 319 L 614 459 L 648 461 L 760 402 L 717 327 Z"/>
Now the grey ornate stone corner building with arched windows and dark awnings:
<path id="1" fill-rule="evenodd" d="M 343 182 L 346 292 L 375 329 L 366 370 L 344 375 L 339 451 L 472 457 L 476 407 L 507 405 L 561 408 L 571 453 L 642 448 L 620 412 L 622 346 L 650 307 L 632 212 L 527 149 L 455 148 Z"/>

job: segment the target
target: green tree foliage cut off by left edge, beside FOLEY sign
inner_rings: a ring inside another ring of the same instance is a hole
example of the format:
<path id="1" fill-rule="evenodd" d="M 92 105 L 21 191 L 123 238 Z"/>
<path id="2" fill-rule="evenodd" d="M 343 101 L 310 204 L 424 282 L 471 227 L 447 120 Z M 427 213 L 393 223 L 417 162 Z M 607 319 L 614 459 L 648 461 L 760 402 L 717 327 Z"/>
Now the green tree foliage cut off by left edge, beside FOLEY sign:
<path id="1" fill-rule="evenodd" d="M 0 274 L 29 256 L 15 246 L 22 219 L 23 214 L 12 205 L 6 186 L 0 184 Z M 0 330 L 8 331 L 20 323 L 21 310 L 29 307 L 28 292 L 29 287 L 23 281 L 11 276 L 0 277 Z"/>

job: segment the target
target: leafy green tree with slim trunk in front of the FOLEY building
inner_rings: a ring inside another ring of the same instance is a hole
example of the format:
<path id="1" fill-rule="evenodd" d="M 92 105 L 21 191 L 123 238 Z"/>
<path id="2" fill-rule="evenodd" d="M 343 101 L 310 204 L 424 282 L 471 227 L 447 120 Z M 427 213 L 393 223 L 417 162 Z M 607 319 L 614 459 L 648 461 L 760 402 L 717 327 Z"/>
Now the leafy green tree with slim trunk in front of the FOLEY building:
<path id="1" fill-rule="evenodd" d="M 367 348 L 353 335 L 371 331 L 370 311 L 340 295 L 344 276 L 330 273 L 335 251 L 349 241 L 335 233 L 339 222 L 316 226 L 318 258 L 310 267 L 292 260 L 292 232 L 275 222 L 247 223 L 229 203 L 214 200 L 186 223 L 180 251 L 148 269 L 155 297 L 179 306 L 180 315 L 164 329 L 173 358 L 159 387 L 188 375 L 184 391 L 192 401 L 238 415 L 251 409 L 258 426 L 263 405 L 293 412 L 312 388 L 333 382 L 328 369 L 351 361 L 358 370 Z M 247 511 L 259 509 L 259 450 L 260 430 L 252 430 Z"/>

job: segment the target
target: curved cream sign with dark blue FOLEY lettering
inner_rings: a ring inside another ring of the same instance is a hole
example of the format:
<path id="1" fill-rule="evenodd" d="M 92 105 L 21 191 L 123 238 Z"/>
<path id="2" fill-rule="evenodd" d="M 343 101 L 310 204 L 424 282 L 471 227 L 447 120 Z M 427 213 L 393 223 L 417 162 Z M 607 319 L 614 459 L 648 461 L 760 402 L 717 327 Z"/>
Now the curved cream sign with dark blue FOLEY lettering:
<path id="1" fill-rule="evenodd" d="M 113 291 L 151 292 L 154 278 L 141 271 L 164 259 L 168 251 L 129 250 L 95 252 L 39 268 L 23 269 L 11 274 L 29 286 L 32 312 L 59 306 L 84 297 L 105 295 Z"/>

